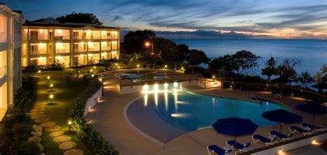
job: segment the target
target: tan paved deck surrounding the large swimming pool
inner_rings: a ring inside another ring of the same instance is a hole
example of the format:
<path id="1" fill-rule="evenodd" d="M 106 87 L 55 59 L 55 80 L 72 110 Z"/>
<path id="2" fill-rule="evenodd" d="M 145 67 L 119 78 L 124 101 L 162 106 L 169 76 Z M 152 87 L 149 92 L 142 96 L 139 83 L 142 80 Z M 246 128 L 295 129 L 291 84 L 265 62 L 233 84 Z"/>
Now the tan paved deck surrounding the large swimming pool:
<path id="1" fill-rule="evenodd" d="M 115 148 L 121 155 L 199 155 L 208 154 L 206 152 L 206 146 L 218 145 L 219 147 L 226 146 L 226 141 L 231 140 L 231 137 L 222 136 L 217 134 L 212 128 L 203 130 L 197 130 L 195 132 L 188 132 L 182 136 L 179 136 L 168 143 L 161 145 L 151 138 L 146 137 L 144 134 L 138 132 L 132 125 L 124 118 L 124 108 L 128 103 L 135 100 L 140 94 L 119 94 L 119 87 L 117 86 L 117 79 L 115 74 L 118 72 L 107 72 L 107 80 L 104 81 L 104 95 L 100 103 L 96 105 L 92 112 L 88 114 L 88 119 L 92 123 L 95 130 L 101 132 L 109 143 L 115 145 Z M 268 92 L 250 92 L 250 91 L 228 91 L 219 88 L 215 89 L 202 89 L 201 87 L 188 87 L 189 90 L 200 92 L 204 94 L 213 94 L 219 96 L 235 97 L 239 99 L 251 99 L 253 93 L 255 96 L 270 99 L 283 103 L 291 107 L 297 114 L 303 116 L 304 122 L 310 123 L 312 121 L 312 115 L 295 110 L 294 107 L 297 103 L 304 101 L 296 97 L 292 98 L 277 98 L 270 95 Z M 327 116 L 316 116 L 316 125 L 327 123 Z M 284 125 L 284 134 L 289 133 L 288 125 Z M 279 125 L 273 127 L 259 127 L 255 134 L 261 134 L 262 136 L 268 136 L 268 131 L 279 131 Z M 301 136 L 297 133 L 295 136 Z M 252 142 L 250 136 L 243 136 L 237 138 L 239 143 Z M 263 147 L 263 143 L 255 143 L 253 148 Z"/>

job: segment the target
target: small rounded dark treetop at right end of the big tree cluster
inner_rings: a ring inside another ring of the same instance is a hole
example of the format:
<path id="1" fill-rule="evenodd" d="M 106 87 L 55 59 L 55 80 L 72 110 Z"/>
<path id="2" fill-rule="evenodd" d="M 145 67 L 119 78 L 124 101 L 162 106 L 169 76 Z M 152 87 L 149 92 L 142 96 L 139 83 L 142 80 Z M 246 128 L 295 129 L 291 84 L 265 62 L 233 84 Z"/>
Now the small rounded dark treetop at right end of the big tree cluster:
<path id="1" fill-rule="evenodd" d="M 190 50 L 187 61 L 191 65 L 200 65 L 201 63 L 208 63 L 209 59 L 203 51 L 193 49 Z"/>

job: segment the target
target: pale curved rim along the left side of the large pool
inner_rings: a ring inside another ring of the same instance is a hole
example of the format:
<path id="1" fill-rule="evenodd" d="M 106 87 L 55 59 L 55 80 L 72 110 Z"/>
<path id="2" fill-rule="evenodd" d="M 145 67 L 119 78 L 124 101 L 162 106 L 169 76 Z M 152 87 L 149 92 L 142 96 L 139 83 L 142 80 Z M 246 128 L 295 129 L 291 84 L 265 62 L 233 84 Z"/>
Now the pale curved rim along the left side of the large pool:
<path id="1" fill-rule="evenodd" d="M 163 142 L 157 140 L 156 138 L 153 138 L 152 136 L 146 134 L 145 132 L 142 132 L 141 130 L 139 130 L 139 128 L 137 128 L 135 125 L 133 125 L 132 122 L 130 122 L 130 119 L 127 116 L 128 107 L 130 107 L 130 105 L 132 103 L 134 103 L 135 101 L 137 101 L 140 98 L 141 98 L 141 95 L 138 96 L 138 97 L 136 97 L 135 99 L 133 99 L 132 101 L 130 101 L 128 104 L 126 104 L 125 107 L 123 107 L 123 118 L 125 119 L 126 123 L 128 123 L 128 125 L 130 125 L 130 127 L 132 127 L 133 130 L 135 130 L 136 132 L 138 132 L 142 136 L 145 136 L 146 138 L 150 139 L 150 141 L 153 141 L 153 142 L 161 145 L 161 147 L 164 147 L 165 143 L 163 143 Z"/>

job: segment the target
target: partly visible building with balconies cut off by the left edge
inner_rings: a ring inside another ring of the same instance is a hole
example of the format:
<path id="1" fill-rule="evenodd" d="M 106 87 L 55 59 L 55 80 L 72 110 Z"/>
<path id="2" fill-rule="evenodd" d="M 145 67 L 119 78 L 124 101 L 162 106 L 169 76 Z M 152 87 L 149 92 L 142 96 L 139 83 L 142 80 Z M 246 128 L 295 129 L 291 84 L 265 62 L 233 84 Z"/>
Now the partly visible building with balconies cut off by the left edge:
<path id="1" fill-rule="evenodd" d="M 21 87 L 21 11 L 0 3 L 0 121 Z"/>

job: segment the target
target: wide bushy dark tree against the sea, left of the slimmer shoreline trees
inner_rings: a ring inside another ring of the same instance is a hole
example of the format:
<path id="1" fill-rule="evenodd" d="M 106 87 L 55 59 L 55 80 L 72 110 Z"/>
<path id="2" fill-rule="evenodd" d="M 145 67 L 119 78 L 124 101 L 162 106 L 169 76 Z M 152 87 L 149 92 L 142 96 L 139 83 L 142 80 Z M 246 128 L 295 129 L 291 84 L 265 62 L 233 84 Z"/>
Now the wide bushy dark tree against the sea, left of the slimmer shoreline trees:
<path id="1" fill-rule="evenodd" d="M 246 50 L 241 50 L 233 54 L 233 63 L 239 66 L 239 68 L 235 68 L 237 74 L 243 74 L 245 70 L 258 66 L 257 59 L 259 58 L 260 56 Z"/>

